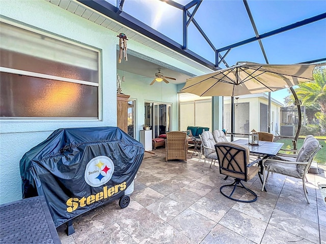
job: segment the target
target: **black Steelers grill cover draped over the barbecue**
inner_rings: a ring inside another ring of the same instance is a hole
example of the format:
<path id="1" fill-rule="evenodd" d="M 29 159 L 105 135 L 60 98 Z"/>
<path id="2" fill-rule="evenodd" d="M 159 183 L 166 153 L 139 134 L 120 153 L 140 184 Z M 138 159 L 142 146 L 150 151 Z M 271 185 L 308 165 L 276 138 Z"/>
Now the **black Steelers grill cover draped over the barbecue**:
<path id="1" fill-rule="evenodd" d="M 117 127 L 59 129 L 20 160 L 22 196 L 45 196 L 58 227 L 123 196 L 143 157 Z"/>

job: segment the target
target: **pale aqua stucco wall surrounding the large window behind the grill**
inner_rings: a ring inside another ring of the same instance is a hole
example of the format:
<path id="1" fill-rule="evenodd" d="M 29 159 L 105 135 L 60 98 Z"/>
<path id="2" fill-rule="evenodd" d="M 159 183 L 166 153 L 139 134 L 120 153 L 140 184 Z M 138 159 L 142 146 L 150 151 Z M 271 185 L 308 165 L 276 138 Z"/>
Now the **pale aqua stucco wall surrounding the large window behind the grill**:
<path id="1" fill-rule="evenodd" d="M 115 64 L 116 35 L 45 1 L 2 1 L 1 15 L 25 26 L 93 46 L 101 50 L 103 64 Z M 68 127 L 116 126 L 116 66 L 102 71 L 102 120 L 1 120 L 0 203 L 21 199 L 19 160 L 54 130 Z"/>

